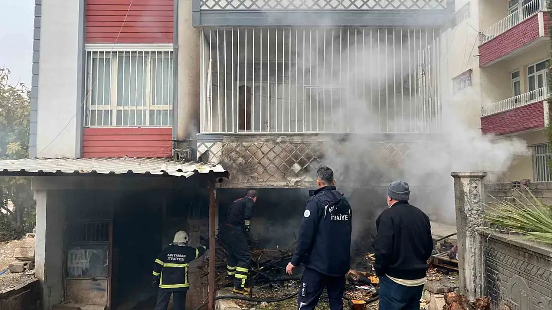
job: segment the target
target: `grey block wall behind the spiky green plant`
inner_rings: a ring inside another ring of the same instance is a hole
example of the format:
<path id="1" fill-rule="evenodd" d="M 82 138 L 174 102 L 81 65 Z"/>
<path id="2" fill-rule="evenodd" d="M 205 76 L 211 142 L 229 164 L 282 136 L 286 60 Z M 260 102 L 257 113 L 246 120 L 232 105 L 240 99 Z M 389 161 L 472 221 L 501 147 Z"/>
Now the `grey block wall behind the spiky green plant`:
<path id="1" fill-rule="evenodd" d="M 526 197 L 530 197 L 529 193 L 521 186 L 521 191 Z M 530 182 L 527 188 L 535 197 L 542 200 L 546 205 L 552 205 L 552 182 Z M 512 183 L 485 183 L 485 203 L 489 204 L 493 201 L 490 197 L 497 199 L 521 198 L 521 194 L 512 187 Z"/>

